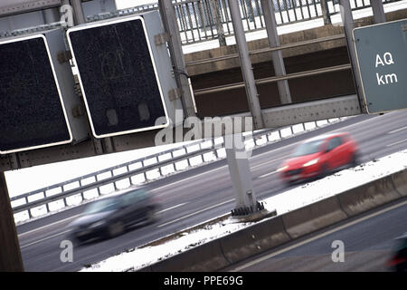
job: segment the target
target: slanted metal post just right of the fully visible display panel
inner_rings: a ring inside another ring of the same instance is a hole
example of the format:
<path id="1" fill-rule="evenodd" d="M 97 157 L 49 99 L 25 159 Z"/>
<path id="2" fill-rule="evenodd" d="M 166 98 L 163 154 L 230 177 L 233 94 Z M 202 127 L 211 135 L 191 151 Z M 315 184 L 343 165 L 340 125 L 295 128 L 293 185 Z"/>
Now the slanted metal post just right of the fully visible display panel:
<path id="1" fill-rule="evenodd" d="M 168 48 L 174 67 L 175 81 L 181 90 L 181 101 L 184 107 L 185 118 L 195 116 L 194 100 L 189 87 L 189 76 L 186 73 L 184 52 L 181 36 L 177 25 L 172 1 L 158 0 L 159 11 L 163 20 L 164 29 L 169 36 Z"/>

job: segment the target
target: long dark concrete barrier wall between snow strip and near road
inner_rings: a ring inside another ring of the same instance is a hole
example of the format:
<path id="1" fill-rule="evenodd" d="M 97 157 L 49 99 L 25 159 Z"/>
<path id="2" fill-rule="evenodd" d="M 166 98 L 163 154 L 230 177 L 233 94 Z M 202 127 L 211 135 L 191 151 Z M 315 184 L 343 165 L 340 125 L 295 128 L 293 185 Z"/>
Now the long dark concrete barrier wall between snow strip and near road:
<path id="1" fill-rule="evenodd" d="M 407 197 L 407 169 L 307 207 L 257 222 L 138 271 L 217 271 L 404 197 Z"/>

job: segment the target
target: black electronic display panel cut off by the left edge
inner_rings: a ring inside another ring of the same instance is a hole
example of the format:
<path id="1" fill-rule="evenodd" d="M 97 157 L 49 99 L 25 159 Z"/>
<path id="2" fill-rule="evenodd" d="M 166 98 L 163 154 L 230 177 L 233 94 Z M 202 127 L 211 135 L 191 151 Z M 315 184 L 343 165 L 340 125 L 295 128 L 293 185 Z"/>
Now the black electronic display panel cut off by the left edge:
<path id="1" fill-rule="evenodd" d="M 43 35 L 0 42 L 0 153 L 71 142 Z"/>

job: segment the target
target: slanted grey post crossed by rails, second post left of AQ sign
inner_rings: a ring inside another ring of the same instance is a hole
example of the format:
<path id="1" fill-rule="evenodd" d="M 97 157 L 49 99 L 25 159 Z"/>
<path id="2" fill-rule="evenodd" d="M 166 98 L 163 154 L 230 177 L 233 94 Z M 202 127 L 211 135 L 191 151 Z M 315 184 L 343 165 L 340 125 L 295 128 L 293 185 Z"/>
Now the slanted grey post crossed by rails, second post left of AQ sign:
<path id="1" fill-rule="evenodd" d="M 264 22 L 266 23 L 267 35 L 269 38 L 269 45 L 271 48 L 279 47 L 279 34 L 277 34 L 276 15 L 274 13 L 274 5 L 272 0 L 261 0 L 261 8 L 263 10 Z M 286 67 L 282 57 L 281 50 L 271 52 L 271 59 L 274 66 L 276 76 L 286 75 Z M 279 101 L 282 104 L 290 103 L 291 93 L 289 92 L 289 81 L 277 82 L 279 89 Z"/>

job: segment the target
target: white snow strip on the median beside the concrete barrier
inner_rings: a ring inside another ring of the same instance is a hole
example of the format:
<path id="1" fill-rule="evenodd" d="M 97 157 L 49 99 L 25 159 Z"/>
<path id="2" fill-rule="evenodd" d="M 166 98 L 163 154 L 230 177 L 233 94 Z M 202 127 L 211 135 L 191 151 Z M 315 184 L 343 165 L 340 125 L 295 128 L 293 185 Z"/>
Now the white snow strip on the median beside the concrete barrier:
<path id="1" fill-rule="evenodd" d="M 282 215 L 297 208 L 303 208 L 321 199 L 329 198 L 353 189 L 374 179 L 407 169 L 407 150 L 393 153 L 380 160 L 373 160 L 353 169 L 345 169 L 314 182 L 298 186 L 279 195 L 262 200 L 265 207 L 277 210 Z M 175 256 L 192 247 L 202 245 L 213 239 L 231 234 L 253 223 L 236 223 L 233 218 L 227 218 L 202 228 L 185 231 L 178 237 L 169 239 L 163 244 L 153 247 L 138 247 L 118 256 L 112 256 L 92 266 L 82 268 L 81 272 L 118 272 L 134 271 L 152 265 L 158 261 Z"/>

